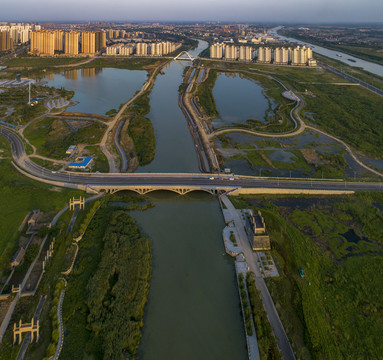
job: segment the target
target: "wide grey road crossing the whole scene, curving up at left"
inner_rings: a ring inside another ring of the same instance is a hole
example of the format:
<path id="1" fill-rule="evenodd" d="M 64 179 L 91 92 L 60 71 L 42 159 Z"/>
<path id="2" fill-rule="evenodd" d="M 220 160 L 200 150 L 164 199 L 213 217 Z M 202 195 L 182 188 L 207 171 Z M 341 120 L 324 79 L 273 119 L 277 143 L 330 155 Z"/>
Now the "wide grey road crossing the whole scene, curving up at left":
<path id="1" fill-rule="evenodd" d="M 133 185 L 167 185 L 167 186 L 203 186 L 214 187 L 245 187 L 275 188 L 301 190 L 348 190 L 348 191 L 382 191 L 381 182 L 344 182 L 323 180 L 300 180 L 288 178 L 267 178 L 226 174 L 173 174 L 173 173 L 70 173 L 47 170 L 25 154 L 24 144 L 13 131 L 0 127 L 0 134 L 11 144 L 15 163 L 24 171 L 48 181 L 64 182 L 67 185 L 98 185 L 98 186 L 133 186 Z"/>

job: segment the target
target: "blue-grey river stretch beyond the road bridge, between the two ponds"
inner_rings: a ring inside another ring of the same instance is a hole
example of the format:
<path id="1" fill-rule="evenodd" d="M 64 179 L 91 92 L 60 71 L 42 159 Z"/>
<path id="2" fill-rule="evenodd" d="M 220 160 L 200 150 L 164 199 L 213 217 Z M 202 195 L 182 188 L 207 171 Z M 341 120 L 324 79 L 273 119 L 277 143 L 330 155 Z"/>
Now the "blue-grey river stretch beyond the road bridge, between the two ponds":
<path id="1" fill-rule="evenodd" d="M 189 51 L 197 56 L 208 46 L 199 41 L 198 47 Z M 150 113 L 156 136 L 154 160 L 139 167 L 137 172 L 199 172 L 198 156 L 190 130 L 178 104 L 178 88 L 183 81 L 183 71 L 190 61 L 172 61 L 158 75 L 150 93 Z"/>

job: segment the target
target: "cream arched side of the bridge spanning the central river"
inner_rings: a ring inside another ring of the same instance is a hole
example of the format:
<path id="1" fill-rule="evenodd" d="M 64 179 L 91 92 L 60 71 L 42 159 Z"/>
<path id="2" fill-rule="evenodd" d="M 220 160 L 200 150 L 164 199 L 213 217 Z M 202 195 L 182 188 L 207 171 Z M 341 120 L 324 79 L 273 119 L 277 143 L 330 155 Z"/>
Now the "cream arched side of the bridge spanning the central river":
<path id="1" fill-rule="evenodd" d="M 145 195 L 156 190 L 172 191 L 179 195 L 185 195 L 191 191 L 205 191 L 212 195 L 237 189 L 238 186 L 187 186 L 187 185 L 88 185 L 88 193 L 107 192 L 114 194 L 117 191 L 130 190 L 140 195 Z"/>

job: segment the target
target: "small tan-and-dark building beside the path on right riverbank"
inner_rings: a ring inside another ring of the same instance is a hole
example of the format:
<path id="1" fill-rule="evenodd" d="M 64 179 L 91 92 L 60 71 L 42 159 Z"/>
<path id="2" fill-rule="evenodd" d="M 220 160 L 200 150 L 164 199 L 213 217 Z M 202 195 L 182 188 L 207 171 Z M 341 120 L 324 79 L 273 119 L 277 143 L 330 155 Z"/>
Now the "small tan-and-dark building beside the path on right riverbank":
<path id="1" fill-rule="evenodd" d="M 250 238 L 251 247 L 254 251 L 270 250 L 270 237 L 266 231 L 265 221 L 258 211 L 254 215 L 252 210 L 246 214 L 246 231 Z"/>

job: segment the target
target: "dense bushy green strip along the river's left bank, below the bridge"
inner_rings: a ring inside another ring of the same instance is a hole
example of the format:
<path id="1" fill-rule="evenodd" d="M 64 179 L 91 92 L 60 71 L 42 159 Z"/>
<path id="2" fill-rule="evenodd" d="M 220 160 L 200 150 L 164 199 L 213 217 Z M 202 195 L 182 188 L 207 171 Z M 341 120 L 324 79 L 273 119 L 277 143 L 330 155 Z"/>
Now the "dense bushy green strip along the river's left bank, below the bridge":
<path id="1" fill-rule="evenodd" d="M 133 358 L 150 274 L 150 244 L 134 220 L 120 210 L 100 209 L 81 240 L 69 281 L 62 358 Z"/>

